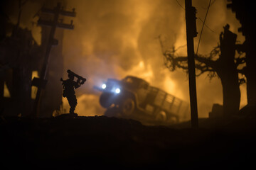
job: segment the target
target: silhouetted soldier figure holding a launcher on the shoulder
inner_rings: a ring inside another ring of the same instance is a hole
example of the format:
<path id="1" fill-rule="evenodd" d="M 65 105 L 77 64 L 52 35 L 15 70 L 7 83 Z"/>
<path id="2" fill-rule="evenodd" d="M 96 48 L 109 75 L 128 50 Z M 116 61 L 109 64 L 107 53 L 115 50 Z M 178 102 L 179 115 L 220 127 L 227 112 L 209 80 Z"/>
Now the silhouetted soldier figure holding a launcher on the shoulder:
<path id="1" fill-rule="evenodd" d="M 86 79 L 83 77 L 78 76 L 78 74 L 75 74 L 74 72 L 70 71 L 68 69 L 68 78 L 66 80 L 63 80 L 62 78 L 60 81 L 63 81 L 63 97 L 66 97 L 68 99 L 68 103 L 70 105 L 70 113 L 75 114 L 75 106 L 77 106 L 78 101 L 75 97 L 75 89 L 78 89 L 82 84 L 85 83 Z M 77 77 L 78 80 L 74 81 L 74 78 Z"/>

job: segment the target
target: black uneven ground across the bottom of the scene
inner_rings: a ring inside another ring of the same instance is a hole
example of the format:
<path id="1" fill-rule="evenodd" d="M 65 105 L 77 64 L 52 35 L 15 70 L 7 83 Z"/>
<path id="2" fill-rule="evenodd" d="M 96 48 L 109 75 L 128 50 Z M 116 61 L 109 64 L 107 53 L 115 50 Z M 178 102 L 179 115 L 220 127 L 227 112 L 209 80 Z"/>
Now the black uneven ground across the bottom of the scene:
<path id="1" fill-rule="evenodd" d="M 2 118 L 1 167 L 255 169 L 256 116 L 145 126 L 105 116 Z"/>

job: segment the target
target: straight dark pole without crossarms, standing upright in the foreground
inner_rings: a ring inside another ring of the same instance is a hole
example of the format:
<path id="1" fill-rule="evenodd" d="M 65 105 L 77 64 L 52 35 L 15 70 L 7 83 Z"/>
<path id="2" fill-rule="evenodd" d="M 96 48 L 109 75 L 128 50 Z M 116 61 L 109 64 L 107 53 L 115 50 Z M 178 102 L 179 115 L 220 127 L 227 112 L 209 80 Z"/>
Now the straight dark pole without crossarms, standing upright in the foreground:
<path id="1" fill-rule="evenodd" d="M 189 96 L 191 104 L 191 127 L 198 128 L 198 108 L 196 98 L 196 71 L 195 71 L 195 53 L 193 38 L 196 37 L 196 8 L 192 6 L 191 0 L 185 0 L 186 11 L 186 35 L 188 51 L 188 82 Z"/>

